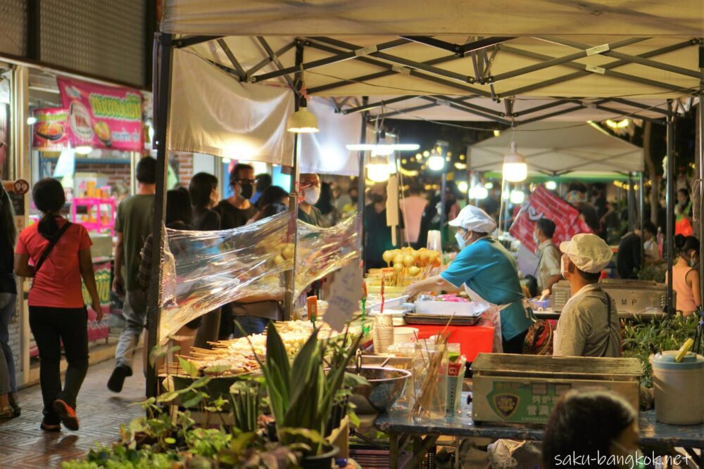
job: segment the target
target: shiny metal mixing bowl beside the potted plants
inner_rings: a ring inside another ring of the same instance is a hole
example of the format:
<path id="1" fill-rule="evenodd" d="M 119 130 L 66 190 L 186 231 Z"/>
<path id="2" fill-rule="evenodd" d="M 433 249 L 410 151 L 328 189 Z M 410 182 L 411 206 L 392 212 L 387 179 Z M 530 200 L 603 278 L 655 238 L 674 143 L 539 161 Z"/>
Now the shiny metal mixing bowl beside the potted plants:
<path id="1" fill-rule="evenodd" d="M 356 368 L 346 368 L 348 373 L 356 373 Z M 389 410 L 406 386 L 410 371 L 381 366 L 363 366 L 359 374 L 367 378 L 369 385 L 360 385 L 352 390 L 350 401 L 357 406 L 360 415 Z"/>

